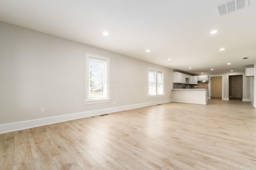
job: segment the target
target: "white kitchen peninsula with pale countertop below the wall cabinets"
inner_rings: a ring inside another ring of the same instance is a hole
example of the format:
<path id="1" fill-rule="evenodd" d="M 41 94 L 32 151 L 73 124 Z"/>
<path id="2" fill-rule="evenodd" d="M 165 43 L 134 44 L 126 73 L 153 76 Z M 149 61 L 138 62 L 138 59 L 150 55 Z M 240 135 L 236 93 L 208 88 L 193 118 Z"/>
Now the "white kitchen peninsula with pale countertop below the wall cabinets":
<path id="1" fill-rule="evenodd" d="M 173 102 L 207 104 L 208 89 L 172 89 Z"/>

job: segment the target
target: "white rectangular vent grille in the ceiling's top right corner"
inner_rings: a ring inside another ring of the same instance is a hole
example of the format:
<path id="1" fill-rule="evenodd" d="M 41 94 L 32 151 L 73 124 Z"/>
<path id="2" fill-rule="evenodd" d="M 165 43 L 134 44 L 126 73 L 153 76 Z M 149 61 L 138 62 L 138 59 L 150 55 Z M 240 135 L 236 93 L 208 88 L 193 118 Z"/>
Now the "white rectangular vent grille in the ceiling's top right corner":
<path id="1" fill-rule="evenodd" d="M 217 5 L 218 14 L 220 16 L 242 9 L 248 6 L 248 0 L 229 0 L 222 4 Z"/>

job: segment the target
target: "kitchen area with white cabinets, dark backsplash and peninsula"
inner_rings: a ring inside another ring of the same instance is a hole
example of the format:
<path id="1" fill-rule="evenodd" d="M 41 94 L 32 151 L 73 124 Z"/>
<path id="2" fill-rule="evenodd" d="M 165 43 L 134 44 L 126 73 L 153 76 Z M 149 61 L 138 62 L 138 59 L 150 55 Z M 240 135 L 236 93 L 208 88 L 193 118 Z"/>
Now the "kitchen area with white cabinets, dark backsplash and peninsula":
<path id="1" fill-rule="evenodd" d="M 192 76 L 173 72 L 173 102 L 207 104 L 210 76 Z"/>

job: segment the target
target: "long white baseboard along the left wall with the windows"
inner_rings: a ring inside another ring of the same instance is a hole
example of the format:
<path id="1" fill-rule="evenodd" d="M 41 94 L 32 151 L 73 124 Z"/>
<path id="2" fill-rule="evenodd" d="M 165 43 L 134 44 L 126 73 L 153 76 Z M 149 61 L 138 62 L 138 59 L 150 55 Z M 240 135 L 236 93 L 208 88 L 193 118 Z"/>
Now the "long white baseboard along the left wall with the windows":
<path id="1" fill-rule="evenodd" d="M 153 106 L 153 105 L 157 105 L 157 104 L 164 104 L 164 103 L 170 103 L 170 102 L 172 102 L 172 99 L 161 100 L 161 101 L 156 101 L 156 102 L 148 102 L 148 103 L 142 103 L 142 104 L 133 104 L 133 105 L 127 105 L 127 106 L 110 107 L 110 108 L 106 108 L 106 109 L 98 109 L 98 110 L 92 110 L 92 111 L 83 111 L 83 112 L 79 112 L 79 113 L 70 113 L 70 114 L 66 114 L 66 115 L 45 117 L 45 118 L 41 118 L 41 119 L 32 119 L 32 120 L 18 121 L 18 122 L 13 122 L 13 123 L 5 123 L 5 124 L 0 124 L 0 134 L 12 132 L 12 131 L 18 131 L 18 130 L 22 130 L 22 129 L 28 129 L 28 128 L 32 128 L 32 127 L 49 125 L 52 123 L 59 123 L 59 122 L 63 122 L 63 121 L 80 119 L 80 118 L 84 118 L 84 117 L 103 115 L 103 114 L 113 113 L 113 112 L 117 112 L 117 111 L 136 109 L 136 108 L 140 108 L 140 107 Z"/>

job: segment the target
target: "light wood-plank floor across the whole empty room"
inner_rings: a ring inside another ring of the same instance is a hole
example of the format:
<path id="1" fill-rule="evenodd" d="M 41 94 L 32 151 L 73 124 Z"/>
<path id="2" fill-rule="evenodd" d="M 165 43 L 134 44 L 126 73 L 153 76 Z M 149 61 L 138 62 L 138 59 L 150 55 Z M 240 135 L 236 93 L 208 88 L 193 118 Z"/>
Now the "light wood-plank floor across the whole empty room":
<path id="1" fill-rule="evenodd" d="M 0 169 L 255 170 L 256 110 L 173 102 L 4 133 Z"/>

